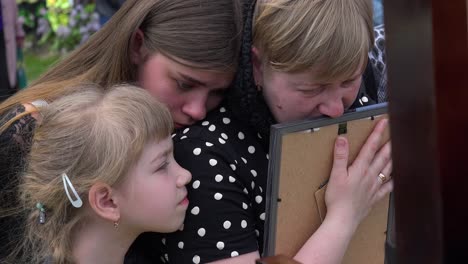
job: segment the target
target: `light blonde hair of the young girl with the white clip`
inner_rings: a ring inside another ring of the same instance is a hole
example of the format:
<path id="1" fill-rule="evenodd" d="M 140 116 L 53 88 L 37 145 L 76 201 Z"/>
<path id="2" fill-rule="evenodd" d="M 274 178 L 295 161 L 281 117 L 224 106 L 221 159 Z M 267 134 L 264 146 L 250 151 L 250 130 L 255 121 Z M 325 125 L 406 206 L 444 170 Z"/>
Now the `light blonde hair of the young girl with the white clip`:
<path id="1" fill-rule="evenodd" d="M 145 144 L 172 132 L 168 109 L 143 89 L 130 85 L 108 91 L 97 85 L 77 89 L 80 92 L 40 110 L 42 121 L 34 133 L 19 191 L 21 207 L 27 212 L 24 241 L 10 257 L 13 263 L 23 263 L 18 258 L 24 263 L 44 263 L 45 258 L 52 263 L 74 262 L 70 238 L 86 217 L 67 198 L 62 173 L 85 202 L 91 185 L 97 181 L 118 184 Z M 36 203 L 44 205 L 44 224 L 39 223 Z M 25 254 L 18 256 L 19 252 Z"/>

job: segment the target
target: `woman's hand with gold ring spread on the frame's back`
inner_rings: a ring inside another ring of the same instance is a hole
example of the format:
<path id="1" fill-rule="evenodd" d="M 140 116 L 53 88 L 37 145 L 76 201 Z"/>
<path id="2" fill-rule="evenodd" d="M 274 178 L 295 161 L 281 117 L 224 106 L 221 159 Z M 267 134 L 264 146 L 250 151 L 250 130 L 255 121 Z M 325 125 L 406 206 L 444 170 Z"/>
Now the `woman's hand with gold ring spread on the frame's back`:
<path id="1" fill-rule="evenodd" d="M 342 223 L 357 228 L 372 206 L 390 193 L 393 181 L 382 182 L 392 172 L 391 146 L 386 142 L 379 149 L 388 120 L 377 123 L 353 164 L 348 167 L 349 145 L 345 137 L 335 142 L 333 168 L 325 193 L 327 218 L 336 217 Z"/>

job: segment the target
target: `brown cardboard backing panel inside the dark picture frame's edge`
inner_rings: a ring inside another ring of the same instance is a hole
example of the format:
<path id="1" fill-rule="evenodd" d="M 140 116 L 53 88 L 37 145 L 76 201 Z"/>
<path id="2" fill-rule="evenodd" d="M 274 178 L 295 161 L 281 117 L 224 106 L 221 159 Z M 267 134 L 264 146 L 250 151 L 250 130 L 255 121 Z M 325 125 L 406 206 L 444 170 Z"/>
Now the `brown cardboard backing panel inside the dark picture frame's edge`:
<path id="1" fill-rule="evenodd" d="M 383 117 L 347 122 L 350 163 Z M 389 139 L 388 131 L 382 143 Z M 275 254 L 294 256 L 320 226 L 326 214 L 325 187 L 320 187 L 330 175 L 337 136 L 338 124 L 283 135 Z M 384 263 L 388 205 L 387 197 L 374 206 L 354 234 L 343 263 Z"/>

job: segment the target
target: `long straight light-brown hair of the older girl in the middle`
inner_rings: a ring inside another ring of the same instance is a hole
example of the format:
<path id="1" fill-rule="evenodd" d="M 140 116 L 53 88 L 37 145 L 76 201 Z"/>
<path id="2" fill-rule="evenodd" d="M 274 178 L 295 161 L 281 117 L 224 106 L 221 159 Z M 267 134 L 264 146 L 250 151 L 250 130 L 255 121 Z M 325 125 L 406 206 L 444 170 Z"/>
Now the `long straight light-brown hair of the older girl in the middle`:
<path id="1" fill-rule="evenodd" d="M 0 113 L 37 99 L 55 100 L 81 82 L 102 87 L 136 82 L 138 67 L 132 64 L 130 53 L 139 29 L 150 54 L 158 52 L 194 68 L 234 72 L 241 42 L 241 9 L 241 0 L 127 0 L 85 44 L 28 89 L 0 104 Z"/>

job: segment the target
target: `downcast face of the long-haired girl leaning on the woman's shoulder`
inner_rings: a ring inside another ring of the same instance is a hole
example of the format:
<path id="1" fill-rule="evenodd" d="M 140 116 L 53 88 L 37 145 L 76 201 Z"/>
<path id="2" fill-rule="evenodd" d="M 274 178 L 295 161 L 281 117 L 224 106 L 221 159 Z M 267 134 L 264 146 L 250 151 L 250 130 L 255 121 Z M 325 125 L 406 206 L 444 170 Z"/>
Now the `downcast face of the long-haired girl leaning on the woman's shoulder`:
<path id="1" fill-rule="evenodd" d="M 234 73 L 187 67 L 162 54 L 147 58 L 139 70 L 139 84 L 171 111 L 175 128 L 205 118 L 223 99 Z"/>

